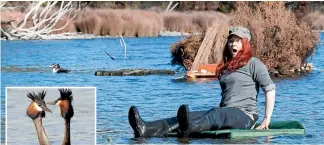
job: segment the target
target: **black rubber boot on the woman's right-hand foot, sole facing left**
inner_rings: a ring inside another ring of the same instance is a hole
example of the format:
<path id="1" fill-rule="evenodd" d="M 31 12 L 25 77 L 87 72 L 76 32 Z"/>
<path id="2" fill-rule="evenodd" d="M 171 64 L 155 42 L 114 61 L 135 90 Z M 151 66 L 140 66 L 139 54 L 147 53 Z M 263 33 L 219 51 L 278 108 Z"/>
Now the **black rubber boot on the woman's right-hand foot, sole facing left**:
<path id="1" fill-rule="evenodd" d="M 207 115 L 193 118 L 190 116 L 189 108 L 187 105 L 181 105 L 178 109 L 177 119 L 179 122 L 179 137 L 187 138 L 189 135 L 195 135 L 201 131 L 209 130 L 211 122 Z"/>

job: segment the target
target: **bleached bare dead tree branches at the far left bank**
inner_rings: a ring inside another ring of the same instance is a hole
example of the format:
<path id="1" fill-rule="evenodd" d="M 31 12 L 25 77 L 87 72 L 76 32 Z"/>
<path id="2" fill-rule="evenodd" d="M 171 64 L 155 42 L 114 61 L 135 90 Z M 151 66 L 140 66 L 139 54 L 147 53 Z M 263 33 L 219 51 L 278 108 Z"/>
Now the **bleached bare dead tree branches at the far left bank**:
<path id="1" fill-rule="evenodd" d="M 62 1 L 59 9 L 54 10 L 57 3 L 58 1 L 33 2 L 24 20 L 11 23 L 12 30 L 9 31 L 10 35 L 8 35 L 8 39 L 43 39 L 44 36 L 51 32 L 64 29 L 75 18 L 80 7 L 72 15 L 74 10 L 72 1 L 67 3 Z M 66 15 L 68 16 L 68 20 L 65 25 L 60 28 L 54 28 L 59 20 L 62 20 Z M 27 27 L 27 21 L 31 21 L 33 26 Z"/>

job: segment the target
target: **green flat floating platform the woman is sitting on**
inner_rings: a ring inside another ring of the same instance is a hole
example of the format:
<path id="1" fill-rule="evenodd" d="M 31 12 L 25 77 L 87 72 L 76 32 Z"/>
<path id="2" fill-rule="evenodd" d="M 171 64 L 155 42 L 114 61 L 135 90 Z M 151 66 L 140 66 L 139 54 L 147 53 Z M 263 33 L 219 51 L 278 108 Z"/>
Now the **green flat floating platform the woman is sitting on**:
<path id="1" fill-rule="evenodd" d="M 256 124 L 256 127 L 260 124 Z M 225 129 L 225 130 L 215 130 L 215 131 L 203 131 L 198 136 L 199 137 L 211 137 L 211 138 L 250 138 L 258 136 L 273 136 L 273 135 L 303 135 L 305 134 L 304 126 L 298 121 L 280 121 L 271 122 L 269 129 Z"/>

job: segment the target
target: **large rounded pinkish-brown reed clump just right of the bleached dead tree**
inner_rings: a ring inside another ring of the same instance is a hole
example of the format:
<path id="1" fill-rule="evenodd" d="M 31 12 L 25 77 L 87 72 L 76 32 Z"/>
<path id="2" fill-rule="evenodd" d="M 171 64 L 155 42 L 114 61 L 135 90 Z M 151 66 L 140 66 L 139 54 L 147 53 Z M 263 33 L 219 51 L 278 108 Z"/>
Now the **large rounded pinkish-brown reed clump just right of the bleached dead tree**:
<path id="1" fill-rule="evenodd" d="M 156 12 L 85 8 L 75 22 L 78 31 L 110 36 L 158 36 L 163 18 Z"/>

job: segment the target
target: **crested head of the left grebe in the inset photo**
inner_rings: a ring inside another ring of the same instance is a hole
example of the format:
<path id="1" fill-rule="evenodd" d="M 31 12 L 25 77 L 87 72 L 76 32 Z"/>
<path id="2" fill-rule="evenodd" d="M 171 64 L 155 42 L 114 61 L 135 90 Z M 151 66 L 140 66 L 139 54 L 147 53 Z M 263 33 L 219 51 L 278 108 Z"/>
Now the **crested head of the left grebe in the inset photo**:
<path id="1" fill-rule="evenodd" d="M 27 93 L 27 97 L 32 100 L 26 111 L 27 116 L 36 119 L 37 117 L 45 117 L 45 111 L 52 113 L 52 111 L 47 108 L 44 101 L 45 95 L 45 91 L 39 92 L 38 94 L 34 92 Z"/>

